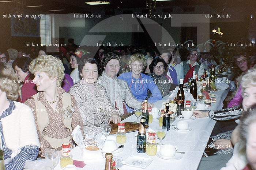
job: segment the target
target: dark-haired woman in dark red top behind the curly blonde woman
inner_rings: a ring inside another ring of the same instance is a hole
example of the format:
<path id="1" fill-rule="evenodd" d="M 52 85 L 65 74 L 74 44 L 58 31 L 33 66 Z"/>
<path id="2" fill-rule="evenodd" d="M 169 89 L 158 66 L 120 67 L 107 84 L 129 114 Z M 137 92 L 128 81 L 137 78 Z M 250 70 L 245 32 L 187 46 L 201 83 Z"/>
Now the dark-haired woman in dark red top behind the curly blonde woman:
<path id="1" fill-rule="evenodd" d="M 33 82 L 34 75 L 29 72 L 29 64 L 31 62 L 31 58 L 22 57 L 17 58 L 12 63 L 12 68 L 15 70 L 18 78 L 22 84 L 19 87 L 19 98 L 18 102 L 24 103 L 28 98 L 36 94 L 37 88 L 35 83 Z"/>

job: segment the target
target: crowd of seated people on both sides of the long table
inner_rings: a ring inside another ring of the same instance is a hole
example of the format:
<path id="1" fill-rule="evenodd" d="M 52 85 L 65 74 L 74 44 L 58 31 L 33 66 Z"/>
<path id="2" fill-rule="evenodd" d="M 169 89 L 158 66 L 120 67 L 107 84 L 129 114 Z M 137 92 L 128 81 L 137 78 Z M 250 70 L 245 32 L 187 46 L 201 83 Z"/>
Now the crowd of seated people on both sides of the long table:
<path id="1" fill-rule="evenodd" d="M 60 50 L 59 56 L 47 55 L 44 50 L 38 50 L 34 58 L 18 51 L 15 54 L 11 60 L 7 53 L 0 53 L 0 145 L 4 159 L 9 159 L 6 170 L 21 170 L 26 160 L 44 158 L 46 149 L 59 149 L 63 143 L 74 147 L 71 134 L 77 125 L 83 134 L 99 133 L 102 123 L 120 122 L 123 114 L 140 109 L 145 99 L 154 106 L 180 79 L 189 82 L 193 71 L 200 78 L 221 62 L 207 52 L 200 57 L 196 49 L 182 57 L 170 49 L 154 56 L 138 49 L 99 49 L 93 55 L 71 45 Z M 234 58 L 241 76 L 237 76 L 237 90 L 227 104 L 233 110 L 240 105 L 256 109 L 255 58 L 246 53 Z M 225 139 L 234 148 L 226 169 L 256 169 L 255 110 L 242 113 L 225 108 L 195 111 L 194 115 L 220 121 L 241 116 L 239 125 Z M 210 159 L 223 157 L 226 155 L 202 158 L 199 169 L 208 166 Z M 225 166 L 223 163 L 219 166 Z"/>

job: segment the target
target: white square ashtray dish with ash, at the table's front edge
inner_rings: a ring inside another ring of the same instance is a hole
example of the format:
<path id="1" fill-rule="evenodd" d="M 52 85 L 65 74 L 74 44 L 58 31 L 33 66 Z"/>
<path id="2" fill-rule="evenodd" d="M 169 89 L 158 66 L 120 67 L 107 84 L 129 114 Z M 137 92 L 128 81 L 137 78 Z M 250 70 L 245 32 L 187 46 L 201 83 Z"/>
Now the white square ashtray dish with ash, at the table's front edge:
<path id="1" fill-rule="evenodd" d="M 135 155 L 130 155 L 125 161 L 122 163 L 124 165 L 139 167 L 139 168 L 146 168 L 153 160 L 151 158 L 144 158 Z"/>

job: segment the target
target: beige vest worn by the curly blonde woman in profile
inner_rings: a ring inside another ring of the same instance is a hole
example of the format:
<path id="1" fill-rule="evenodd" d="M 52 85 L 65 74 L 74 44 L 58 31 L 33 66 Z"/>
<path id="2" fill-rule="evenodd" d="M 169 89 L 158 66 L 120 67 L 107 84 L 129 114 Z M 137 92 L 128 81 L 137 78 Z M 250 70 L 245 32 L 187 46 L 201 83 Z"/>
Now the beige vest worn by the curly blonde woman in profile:
<path id="1" fill-rule="evenodd" d="M 37 113 L 37 126 L 39 129 L 40 135 L 46 141 L 48 141 L 54 149 L 57 149 L 58 147 L 61 147 L 61 145 L 63 143 L 69 143 L 69 139 L 71 138 L 71 135 L 69 135 L 67 138 L 63 138 L 63 139 L 56 139 L 56 138 L 49 137 L 48 135 L 43 135 L 43 130 L 49 124 L 49 118 L 48 118 L 44 104 L 42 104 L 41 101 L 37 101 L 38 94 L 39 93 L 33 95 L 32 97 L 35 100 L 35 108 L 36 108 L 36 113 Z M 67 92 L 63 93 L 61 100 L 62 100 L 63 108 L 71 106 L 71 96 Z M 64 126 L 72 131 L 71 119 L 64 119 L 64 117 L 63 117 L 63 120 L 64 120 Z"/>

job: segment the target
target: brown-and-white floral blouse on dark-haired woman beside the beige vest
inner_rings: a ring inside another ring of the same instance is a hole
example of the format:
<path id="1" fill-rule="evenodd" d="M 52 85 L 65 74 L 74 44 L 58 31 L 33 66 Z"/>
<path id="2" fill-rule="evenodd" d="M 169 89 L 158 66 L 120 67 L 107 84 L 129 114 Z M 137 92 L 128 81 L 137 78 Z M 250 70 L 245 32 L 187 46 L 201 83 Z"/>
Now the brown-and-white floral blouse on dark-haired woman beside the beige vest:
<path id="1" fill-rule="evenodd" d="M 99 126 L 108 123 L 114 111 L 120 114 L 110 103 L 106 89 L 97 82 L 94 85 L 94 91 L 90 91 L 86 84 L 78 82 L 69 91 L 78 104 L 85 134 L 100 133 Z"/>

